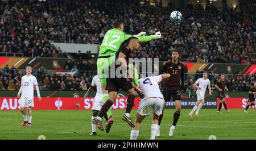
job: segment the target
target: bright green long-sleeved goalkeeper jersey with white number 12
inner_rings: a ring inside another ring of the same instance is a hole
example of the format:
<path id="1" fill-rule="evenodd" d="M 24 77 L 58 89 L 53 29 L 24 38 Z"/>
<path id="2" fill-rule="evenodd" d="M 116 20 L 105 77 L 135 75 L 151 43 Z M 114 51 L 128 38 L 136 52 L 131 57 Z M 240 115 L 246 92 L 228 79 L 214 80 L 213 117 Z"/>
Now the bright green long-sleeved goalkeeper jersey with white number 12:
<path id="1" fill-rule="evenodd" d="M 121 47 L 123 41 L 129 39 L 132 35 L 127 35 L 125 32 L 113 28 L 106 32 L 102 44 L 100 46 L 100 52 L 98 53 L 99 57 L 108 56 L 110 54 L 115 54 L 118 49 Z M 139 41 L 147 42 L 155 39 L 154 35 L 151 36 L 141 36 L 138 37 Z"/>

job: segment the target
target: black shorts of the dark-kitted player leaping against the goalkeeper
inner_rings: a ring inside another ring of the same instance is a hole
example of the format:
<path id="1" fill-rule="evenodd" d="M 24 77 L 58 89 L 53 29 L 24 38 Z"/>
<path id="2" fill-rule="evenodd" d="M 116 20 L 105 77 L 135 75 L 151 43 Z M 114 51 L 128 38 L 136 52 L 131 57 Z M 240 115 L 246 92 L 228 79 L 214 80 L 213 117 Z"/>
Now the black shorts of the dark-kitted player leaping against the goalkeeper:
<path id="1" fill-rule="evenodd" d="M 108 90 L 109 93 L 113 91 L 118 93 L 119 88 L 123 91 L 133 89 L 133 85 L 128 78 L 106 78 L 106 81 L 106 90 Z"/>

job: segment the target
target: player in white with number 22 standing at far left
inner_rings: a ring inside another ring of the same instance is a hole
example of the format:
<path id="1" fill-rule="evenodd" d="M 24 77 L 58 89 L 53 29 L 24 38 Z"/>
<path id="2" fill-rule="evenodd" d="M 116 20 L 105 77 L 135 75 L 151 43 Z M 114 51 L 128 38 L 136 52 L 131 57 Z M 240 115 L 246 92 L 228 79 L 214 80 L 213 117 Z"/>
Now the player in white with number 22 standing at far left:
<path id="1" fill-rule="evenodd" d="M 22 77 L 21 86 L 17 97 L 20 98 L 20 111 L 24 119 L 24 122 L 20 126 L 27 124 L 28 127 L 31 127 L 32 107 L 34 107 L 34 87 L 36 88 L 38 99 L 42 100 L 42 98 L 40 97 L 38 81 L 36 80 L 36 77 L 31 74 L 31 66 L 26 67 L 26 73 L 27 74 Z M 20 94 L 22 94 L 21 97 Z M 28 110 L 28 117 L 24 108 L 27 108 Z"/>

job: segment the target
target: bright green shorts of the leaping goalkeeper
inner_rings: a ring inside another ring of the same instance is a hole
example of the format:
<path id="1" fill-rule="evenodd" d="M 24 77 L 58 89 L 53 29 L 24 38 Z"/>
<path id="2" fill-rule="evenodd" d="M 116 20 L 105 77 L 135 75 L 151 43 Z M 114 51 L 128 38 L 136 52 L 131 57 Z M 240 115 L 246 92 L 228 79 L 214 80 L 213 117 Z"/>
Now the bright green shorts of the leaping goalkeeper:
<path id="1" fill-rule="evenodd" d="M 98 78 L 100 78 L 101 85 L 106 85 L 106 77 L 108 75 L 109 66 L 115 61 L 115 56 L 108 58 L 98 58 L 97 60 L 97 72 Z"/>

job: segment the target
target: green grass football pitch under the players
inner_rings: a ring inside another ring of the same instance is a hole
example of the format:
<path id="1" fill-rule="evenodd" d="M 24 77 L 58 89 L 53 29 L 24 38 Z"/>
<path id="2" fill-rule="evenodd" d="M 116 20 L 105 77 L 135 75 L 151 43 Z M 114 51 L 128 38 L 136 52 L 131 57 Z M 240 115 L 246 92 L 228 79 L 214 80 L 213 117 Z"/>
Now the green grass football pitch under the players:
<path id="1" fill-rule="evenodd" d="M 202 139 L 207 140 L 210 135 L 217 139 L 256 139 L 256 110 L 249 114 L 243 110 L 231 110 L 224 115 L 217 114 L 216 109 L 201 109 L 200 118 L 188 117 L 191 110 L 182 109 L 180 119 L 176 125 L 174 136 L 168 132 L 172 123 L 174 110 L 164 110 L 164 118 L 160 128 L 160 137 L 156 139 L 180 140 Z M 97 136 L 88 136 L 92 131 L 89 110 L 60 110 L 60 111 L 33 111 L 32 127 L 20 127 L 23 119 L 20 111 L 0 111 L 0 139 L 38 139 L 44 135 L 46 139 L 109 139 L 129 140 L 131 128 L 121 117 L 125 110 L 113 110 L 114 124 L 109 133 L 100 132 Z M 132 119 L 135 120 L 136 110 L 133 110 Z M 105 123 L 105 121 L 104 121 Z M 151 116 L 144 119 L 139 131 L 138 139 L 150 139 Z"/>

